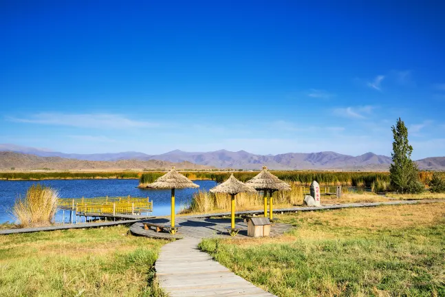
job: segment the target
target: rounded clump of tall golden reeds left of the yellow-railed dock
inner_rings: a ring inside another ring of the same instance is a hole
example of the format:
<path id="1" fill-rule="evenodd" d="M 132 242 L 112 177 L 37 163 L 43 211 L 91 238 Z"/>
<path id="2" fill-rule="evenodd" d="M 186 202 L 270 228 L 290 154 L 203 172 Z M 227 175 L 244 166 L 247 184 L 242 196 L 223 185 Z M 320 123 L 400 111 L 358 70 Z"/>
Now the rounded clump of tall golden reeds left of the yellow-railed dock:
<path id="1" fill-rule="evenodd" d="M 57 210 L 56 190 L 34 184 L 26 191 L 25 197 L 16 199 L 12 213 L 23 228 L 51 225 Z"/>

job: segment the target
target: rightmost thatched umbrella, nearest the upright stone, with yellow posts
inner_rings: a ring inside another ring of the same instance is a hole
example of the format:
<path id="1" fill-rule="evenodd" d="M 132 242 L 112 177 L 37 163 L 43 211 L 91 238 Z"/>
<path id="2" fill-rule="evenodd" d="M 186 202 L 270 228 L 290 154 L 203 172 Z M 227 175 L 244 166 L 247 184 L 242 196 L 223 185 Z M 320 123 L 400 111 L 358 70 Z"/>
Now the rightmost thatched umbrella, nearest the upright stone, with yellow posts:
<path id="1" fill-rule="evenodd" d="M 246 181 L 246 184 L 249 186 L 252 186 L 252 188 L 255 188 L 256 190 L 262 190 L 264 192 L 264 217 L 268 217 L 268 197 L 265 195 L 266 192 L 268 193 L 270 204 L 269 204 L 269 216 L 270 220 L 273 219 L 273 198 L 272 198 L 272 192 L 276 190 L 291 190 L 289 184 L 287 182 L 282 181 L 275 175 L 272 175 L 268 171 L 268 168 L 266 166 L 263 166 L 263 170 L 261 173 L 259 173 L 254 178 Z"/>

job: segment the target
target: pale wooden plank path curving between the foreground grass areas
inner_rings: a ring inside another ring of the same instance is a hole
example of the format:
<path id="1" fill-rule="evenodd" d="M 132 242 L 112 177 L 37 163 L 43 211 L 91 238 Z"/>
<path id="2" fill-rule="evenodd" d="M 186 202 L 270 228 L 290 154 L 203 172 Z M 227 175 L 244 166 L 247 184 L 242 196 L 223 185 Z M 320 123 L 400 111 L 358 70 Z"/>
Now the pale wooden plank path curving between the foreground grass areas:
<path id="1" fill-rule="evenodd" d="M 274 296 L 199 251 L 200 241 L 186 238 L 162 246 L 155 269 L 169 296 Z"/>

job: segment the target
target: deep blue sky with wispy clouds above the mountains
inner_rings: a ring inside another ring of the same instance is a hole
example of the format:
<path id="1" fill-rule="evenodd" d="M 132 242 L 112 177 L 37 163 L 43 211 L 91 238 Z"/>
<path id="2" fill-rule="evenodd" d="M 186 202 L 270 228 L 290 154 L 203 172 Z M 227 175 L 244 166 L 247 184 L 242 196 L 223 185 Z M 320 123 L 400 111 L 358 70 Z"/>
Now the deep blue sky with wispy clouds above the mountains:
<path id="1" fill-rule="evenodd" d="M 0 143 L 444 155 L 445 4 L 333 2 L 0 1 Z"/>

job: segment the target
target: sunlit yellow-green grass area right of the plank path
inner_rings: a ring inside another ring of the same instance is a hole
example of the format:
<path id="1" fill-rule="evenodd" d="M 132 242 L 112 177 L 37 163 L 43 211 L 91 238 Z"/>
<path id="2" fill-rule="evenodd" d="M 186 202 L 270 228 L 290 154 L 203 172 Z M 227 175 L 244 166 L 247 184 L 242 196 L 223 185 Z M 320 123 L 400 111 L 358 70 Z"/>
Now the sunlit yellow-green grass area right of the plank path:
<path id="1" fill-rule="evenodd" d="M 200 248 L 278 296 L 445 296 L 445 203 L 280 215 L 276 239 Z"/>

